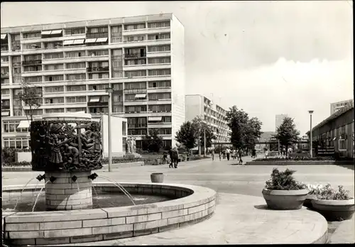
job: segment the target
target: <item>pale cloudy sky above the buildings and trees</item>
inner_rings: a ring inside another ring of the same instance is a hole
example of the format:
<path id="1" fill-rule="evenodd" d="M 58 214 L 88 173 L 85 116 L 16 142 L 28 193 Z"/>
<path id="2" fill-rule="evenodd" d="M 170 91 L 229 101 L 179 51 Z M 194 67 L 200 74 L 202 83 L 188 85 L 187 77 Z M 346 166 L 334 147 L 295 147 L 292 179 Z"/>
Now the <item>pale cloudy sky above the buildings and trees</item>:
<path id="1" fill-rule="evenodd" d="M 186 94 L 236 105 L 301 135 L 354 97 L 352 1 L 1 2 L 1 28 L 174 13 L 185 26 Z"/>

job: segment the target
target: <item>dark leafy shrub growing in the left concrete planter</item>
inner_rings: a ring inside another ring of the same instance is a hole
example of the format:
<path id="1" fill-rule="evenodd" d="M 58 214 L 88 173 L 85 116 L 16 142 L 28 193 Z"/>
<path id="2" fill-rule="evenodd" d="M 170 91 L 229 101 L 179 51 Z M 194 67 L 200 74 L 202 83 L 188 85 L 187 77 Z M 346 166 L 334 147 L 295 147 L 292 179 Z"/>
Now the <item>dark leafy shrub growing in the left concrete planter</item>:
<path id="1" fill-rule="evenodd" d="M 265 188 L 268 190 L 303 190 L 307 186 L 297 182 L 293 177 L 295 170 L 286 169 L 280 172 L 278 168 L 273 168 L 271 178 L 266 181 Z"/>

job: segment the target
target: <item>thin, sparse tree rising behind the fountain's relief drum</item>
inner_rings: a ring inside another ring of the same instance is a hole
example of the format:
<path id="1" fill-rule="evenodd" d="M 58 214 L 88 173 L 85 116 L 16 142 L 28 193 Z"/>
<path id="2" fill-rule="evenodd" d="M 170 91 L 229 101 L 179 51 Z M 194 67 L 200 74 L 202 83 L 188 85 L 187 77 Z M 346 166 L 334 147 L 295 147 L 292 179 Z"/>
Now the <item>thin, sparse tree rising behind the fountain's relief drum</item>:
<path id="1" fill-rule="evenodd" d="M 33 121 L 34 111 L 42 104 L 42 90 L 38 90 L 38 87 L 33 87 L 22 79 L 21 92 L 17 94 L 17 97 L 20 100 L 23 111 L 25 111 L 24 106 L 29 107 L 28 111 L 25 111 L 26 118 L 28 121 Z"/>

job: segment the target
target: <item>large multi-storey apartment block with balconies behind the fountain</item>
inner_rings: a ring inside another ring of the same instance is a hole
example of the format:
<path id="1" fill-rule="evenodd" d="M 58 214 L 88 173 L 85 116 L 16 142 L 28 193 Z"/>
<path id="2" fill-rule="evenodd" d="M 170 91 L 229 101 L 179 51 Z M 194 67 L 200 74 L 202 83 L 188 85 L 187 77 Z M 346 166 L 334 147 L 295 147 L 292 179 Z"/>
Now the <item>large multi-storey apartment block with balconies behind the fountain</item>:
<path id="1" fill-rule="evenodd" d="M 109 108 L 128 136 L 157 128 L 165 146 L 185 121 L 184 27 L 172 13 L 1 28 L 3 147 L 28 147 L 21 80 L 43 92 L 35 117 Z"/>

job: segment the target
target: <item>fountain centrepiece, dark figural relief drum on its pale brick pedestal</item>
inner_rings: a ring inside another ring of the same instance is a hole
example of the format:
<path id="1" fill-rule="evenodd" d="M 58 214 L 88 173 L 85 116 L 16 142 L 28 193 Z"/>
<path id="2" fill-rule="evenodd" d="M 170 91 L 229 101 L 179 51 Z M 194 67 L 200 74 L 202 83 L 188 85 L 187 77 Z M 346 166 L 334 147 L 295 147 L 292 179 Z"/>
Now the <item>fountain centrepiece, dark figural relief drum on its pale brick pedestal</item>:
<path id="1" fill-rule="evenodd" d="M 45 114 L 31 122 L 32 170 L 44 171 L 50 210 L 92 207 L 91 171 L 102 168 L 101 126 L 90 114 Z"/>

